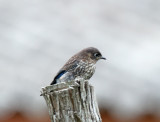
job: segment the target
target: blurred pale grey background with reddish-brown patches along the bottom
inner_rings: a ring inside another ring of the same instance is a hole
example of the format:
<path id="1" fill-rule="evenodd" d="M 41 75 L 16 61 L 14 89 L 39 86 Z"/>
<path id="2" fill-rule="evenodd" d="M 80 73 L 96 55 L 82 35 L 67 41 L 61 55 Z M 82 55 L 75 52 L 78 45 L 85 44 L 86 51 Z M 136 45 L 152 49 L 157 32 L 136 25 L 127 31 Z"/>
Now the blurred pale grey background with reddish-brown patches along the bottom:
<path id="1" fill-rule="evenodd" d="M 103 122 L 160 121 L 159 0 L 0 0 L 0 122 L 49 122 L 41 87 L 98 48 Z"/>

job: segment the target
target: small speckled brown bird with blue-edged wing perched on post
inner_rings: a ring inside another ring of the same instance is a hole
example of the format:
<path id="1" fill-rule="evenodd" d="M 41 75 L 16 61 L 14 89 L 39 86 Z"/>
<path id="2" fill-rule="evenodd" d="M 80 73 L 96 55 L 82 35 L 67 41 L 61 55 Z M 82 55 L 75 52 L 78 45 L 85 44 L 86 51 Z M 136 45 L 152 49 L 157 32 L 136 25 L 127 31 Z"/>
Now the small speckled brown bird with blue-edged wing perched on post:
<path id="1" fill-rule="evenodd" d="M 89 47 L 81 50 L 60 69 L 51 85 L 78 78 L 89 80 L 95 72 L 95 64 L 99 59 L 106 60 L 98 49 Z"/>

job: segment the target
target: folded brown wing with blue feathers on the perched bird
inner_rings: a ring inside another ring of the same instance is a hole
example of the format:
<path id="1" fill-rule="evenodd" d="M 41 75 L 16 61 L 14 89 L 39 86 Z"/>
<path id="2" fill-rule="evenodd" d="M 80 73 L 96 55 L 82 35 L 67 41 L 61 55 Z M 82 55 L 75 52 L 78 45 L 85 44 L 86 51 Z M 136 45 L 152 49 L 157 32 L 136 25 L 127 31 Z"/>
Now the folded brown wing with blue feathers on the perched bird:
<path id="1" fill-rule="evenodd" d="M 57 83 L 57 79 L 59 79 L 62 75 L 64 75 L 66 72 L 69 72 L 71 70 L 74 70 L 78 66 L 79 61 L 68 61 L 61 70 L 57 73 L 57 75 L 54 77 L 53 81 L 51 82 L 51 85 Z"/>

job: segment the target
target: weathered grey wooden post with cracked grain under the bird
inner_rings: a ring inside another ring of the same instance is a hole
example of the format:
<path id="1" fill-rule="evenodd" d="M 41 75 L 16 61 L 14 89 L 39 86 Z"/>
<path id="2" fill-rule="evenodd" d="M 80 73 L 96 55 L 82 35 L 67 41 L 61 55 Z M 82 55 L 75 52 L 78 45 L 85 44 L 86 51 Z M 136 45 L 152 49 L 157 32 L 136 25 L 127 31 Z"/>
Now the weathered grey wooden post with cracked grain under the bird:
<path id="1" fill-rule="evenodd" d="M 88 81 L 42 88 L 51 122 L 101 122 L 93 86 Z"/>

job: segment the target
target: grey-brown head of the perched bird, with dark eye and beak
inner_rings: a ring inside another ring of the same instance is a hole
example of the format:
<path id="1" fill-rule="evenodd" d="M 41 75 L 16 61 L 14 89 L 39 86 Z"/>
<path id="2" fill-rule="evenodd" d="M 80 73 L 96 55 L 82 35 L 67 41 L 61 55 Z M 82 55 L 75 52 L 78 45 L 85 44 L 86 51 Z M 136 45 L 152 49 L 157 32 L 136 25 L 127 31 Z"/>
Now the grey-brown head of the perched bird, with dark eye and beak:
<path id="1" fill-rule="evenodd" d="M 85 48 L 80 51 L 79 54 L 81 55 L 81 58 L 93 61 L 95 63 L 100 59 L 106 60 L 106 58 L 102 56 L 100 51 L 94 47 Z"/>

